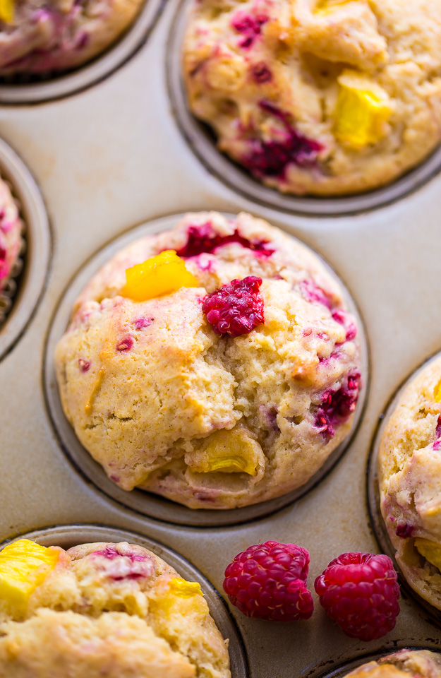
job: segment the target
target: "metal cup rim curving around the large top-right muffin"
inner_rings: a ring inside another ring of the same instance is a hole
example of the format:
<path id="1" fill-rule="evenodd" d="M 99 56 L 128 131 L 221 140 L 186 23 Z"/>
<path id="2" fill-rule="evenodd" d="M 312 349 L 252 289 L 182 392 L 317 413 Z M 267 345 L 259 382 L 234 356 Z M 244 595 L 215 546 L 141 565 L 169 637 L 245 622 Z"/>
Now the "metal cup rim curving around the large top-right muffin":
<path id="1" fill-rule="evenodd" d="M 265 186 L 250 172 L 217 150 L 210 129 L 199 121 L 187 105 L 181 76 L 181 55 L 186 27 L 186 12 L 193 0 L 179 0 L 169 32 L 165 54 L 167 92 L 174 122 L 186 145 L 207 172 L 229 191 L 263 208 L 310 218 L 351 217 L 397 203 L 415 193 L 441 172 L 441 144 L 416 167 L 411 167 L 393 182 L 365 193 L 346 196 L 295 196 Z"/>

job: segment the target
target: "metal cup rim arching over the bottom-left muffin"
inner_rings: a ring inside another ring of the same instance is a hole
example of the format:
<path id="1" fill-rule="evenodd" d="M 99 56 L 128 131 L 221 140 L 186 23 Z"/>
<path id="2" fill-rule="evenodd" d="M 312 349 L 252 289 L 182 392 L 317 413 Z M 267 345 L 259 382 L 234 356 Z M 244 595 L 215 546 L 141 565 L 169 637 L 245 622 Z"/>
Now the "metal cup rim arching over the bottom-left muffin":
<path id="1" fill-rule="evenodd" d="M 198 569 L 173 549 L 169 549 L 167 546 L 143 535 L 137 535 L 129 530 L 111 528 L 108 525 L 56 525 L 56 527 L 33 530 L 30 533 L 20 535 L 20 537 L 35 541 L 42 546 L 60 546 L 63 549 L 93 542 L 128 542 L 149 549 L 171 567 L 174 567 L 176 572 L 184 579 L 200 583 L 212 618 L 222 636 L 229 638 L 228 651 L 231 662 L 231 677 L 242 678 L 244 676 L 248 678 L 248 663 L 243 641 L 222 597 Z M 8 543 L 10 543 L 10 540 L 0 545 L 0 550 Z"/>

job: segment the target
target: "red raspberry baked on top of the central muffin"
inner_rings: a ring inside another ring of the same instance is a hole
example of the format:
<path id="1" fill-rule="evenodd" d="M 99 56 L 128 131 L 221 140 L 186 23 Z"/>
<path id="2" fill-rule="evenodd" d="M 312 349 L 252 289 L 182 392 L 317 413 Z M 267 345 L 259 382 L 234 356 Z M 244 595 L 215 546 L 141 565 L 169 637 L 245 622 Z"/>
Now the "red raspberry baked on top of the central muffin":
<path id="1" fill-rule="evenodd" d="M 264 321 L 261 278 L 248 275 L 222 285 L 203 301 L 203 312 L 216 334 L 238 337 L 248 334 Z"/>

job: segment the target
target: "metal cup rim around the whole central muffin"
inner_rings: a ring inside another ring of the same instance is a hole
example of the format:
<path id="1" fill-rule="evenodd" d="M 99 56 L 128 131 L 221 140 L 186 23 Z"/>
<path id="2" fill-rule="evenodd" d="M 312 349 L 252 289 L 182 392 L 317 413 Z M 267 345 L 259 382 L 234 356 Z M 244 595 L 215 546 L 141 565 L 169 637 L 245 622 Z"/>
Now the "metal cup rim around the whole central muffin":
<path id="1" fill-rule="evenodd" d="M 227 214 L 226 216 L 233 217 L 234 215 Z M 167 521 L 169 523 L 195 525 L 198 527 L 219 527 L 221 525 L 234 525 L 237 523 L 255 520 L 256 518 L 262 518 L 262 516 L 267 516 L 273 511 L 277 511 L 278 509 L 282 509 L 284 506 L 291 504 L 293 501 L 296 501 L 296 499 L 300 499 L 303 494 L 306 494 L 308 490 L 310 490 L 312 487 L 315 487 L 315 485 L 318 484 L 318 482 L 320 482 L 323 477 L 325 477 L 327 472 L 332 469 L 346 448 L 351 444 L 351 439 L 354 438 L 358 424 L 361 421 L 361 416 L 368 395 L 368 343 L 366 340 L 363 321 L 360 317 L 360 314 L 358 313 L 358 309 L 356 308 L 354 300 L 351 298 L 348 290 L 346 287 L 344 287 L 344 284 L 341 280 L 339 280 L 332 268 L 322 261 L 322 263 L 327 268 L 328 273 L 330 273 L 332 278 L 334 278 L 334 280 L 336 280 L 336 282 L 342 286 L 346 304 L 351 313 L 356 317 L 357 326 L 359 328 L 358 336 L 361 345 L 361 366 L 363 375 L 363 388 L 361 389 L 360 397 L 358 398 L 356 413 L 351 430 L 342 444 L 340 444 L 332 452 L 330 457 L 327 458 L 325 464 L 322 465 L 322 468 L 320 468 L 320 470 L 318 470 L 318 472 L 316 472 L 306 484 L 294 490 L 293 492 L 289 492 L 289 494 L 285 494 L 284 496 L 280 496 L 277 499 L 272 499 L 270 501 L 264 501 L 261 504 L 254 504 L 253 506 L 246 506 L 241 509 L 229 509 L 226 511 L 216 511 L 213 509 L 188 509 L 186 506 L 181 506 L 180 504 L 176 504 L 174 501 L 169 501 L 168 499 L 164 499 L 164 497 L 152 494 L 151 492 L 145 492 L 141 489 L 133 489 L 131 492 L 126 492 L 126 490 L 118 487 L 114 482 L 109 480 L 101 465 L 95 462 L 95 460 L 93 460 L 87 450 L 83 447 L 76 437 L 71 424 L 69 424 L 64 415 L 63 409 L 61 407 L 59 391 L 56 386 L 54 369 L 55 347 L 61 339 L 61 336 L 64 334 L 64 331 L 66 331 L 66 328 L 68 327 L 75 299 L 80 295 L 80 292 L 82 292 L 85 285 L 87 285 L 90 278 L 92 278 L 92 275 L 94 275 L 97 270 L 99 270 L 99 268 L 104 265 L 104 263 L 107 263 L 107 261 L 109 261 L 112 256 L 117 254 L 117 252 L 121 251 L 121 249 L 124 247 L 147 235 L 173 228 L 181 217 L 183 217 L 183 214 L 170 215 L 161 219 L 153 220 L 151 222 L 146 222 L 145 224 L 141 224 L 129 230 L 125 234 L 121 235 L 121 237 L 116 238 L 111 243 L 107 244 L 107 246 L 104 246 L 104 248 L 97 252 L 95 256 L 92 256 L 92 258 L 85 264 L 78 274 L 75 275 L 75 278 L 61 298 L 59 307 L 56 309 L 52 325 L 49 329 L 44 356 L 43 379 L 45 394 L 49 414 L 52 418 L 52 423 L 54 424 L 56 434 L 58 435 L 61 446 L 66 451 L 66 454 L 75 464 L 75 466 L 77 466 L 79 470 L 83 472 L 88 480 L 94 482 L 97 487 L 99 487 L 99 489 L 102 489 L 103 492 L 113 497 L 113 499 L 120 501 L 121 504 L 128 506 L 129 509 L 143 513 L 145 516 L 151 516 L 157 520 Z"/>

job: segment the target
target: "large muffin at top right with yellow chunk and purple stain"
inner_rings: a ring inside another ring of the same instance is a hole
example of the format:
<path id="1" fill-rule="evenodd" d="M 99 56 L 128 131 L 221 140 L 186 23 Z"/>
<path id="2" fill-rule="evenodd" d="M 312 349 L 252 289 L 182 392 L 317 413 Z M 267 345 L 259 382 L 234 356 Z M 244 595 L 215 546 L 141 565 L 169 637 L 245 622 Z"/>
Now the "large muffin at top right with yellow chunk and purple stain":
<path id="1" fill-rule="evenodd" d="M 441 138 L 438 0 L 192 0 L 191 112 L 283 193 L 375 189 Z"/>

